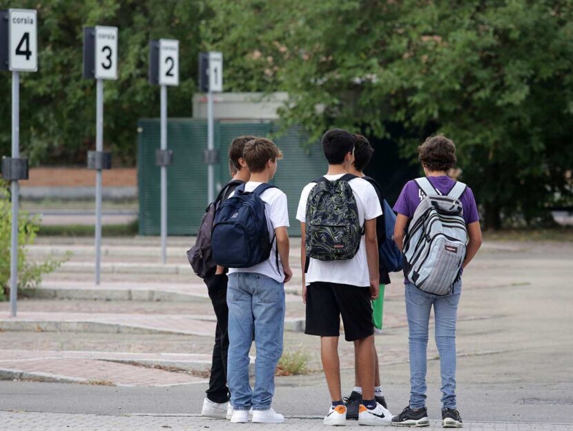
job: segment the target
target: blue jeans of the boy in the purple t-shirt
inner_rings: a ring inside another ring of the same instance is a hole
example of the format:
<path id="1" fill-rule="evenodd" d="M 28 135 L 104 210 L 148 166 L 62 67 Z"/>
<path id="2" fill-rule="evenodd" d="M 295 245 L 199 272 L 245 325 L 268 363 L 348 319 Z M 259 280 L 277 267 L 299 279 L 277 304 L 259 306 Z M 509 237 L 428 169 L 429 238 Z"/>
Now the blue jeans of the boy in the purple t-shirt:
<path id="1" fill-rule="evenodd" d="M 431 306 L 434 305 L 436 345 L 440 354 L 443 408 L 456 408 L 456 320 L 462 283 L 450 294 L 438 297 L 406 284 L 406 314 L 409 328 L 410 408 L 426 404 L 426 350 Z"/>

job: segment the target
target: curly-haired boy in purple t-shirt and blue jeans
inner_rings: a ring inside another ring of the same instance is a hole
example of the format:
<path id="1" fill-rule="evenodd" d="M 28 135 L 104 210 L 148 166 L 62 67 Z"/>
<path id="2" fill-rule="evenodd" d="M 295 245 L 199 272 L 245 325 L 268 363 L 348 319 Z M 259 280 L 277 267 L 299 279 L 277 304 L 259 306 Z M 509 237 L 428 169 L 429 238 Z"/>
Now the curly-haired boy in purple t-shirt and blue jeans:
<path id="1" fill-rule="evenodd" d="M 418 157 L 425 176 L 436 194 L 446 196 L 456 186 L 456 181 L 447 177 L 447 171 L 456 165 L 456 146 L 444 136 L 429 137 L 418 147 Z M 426 197 L 416 181 L 408 181 L 394 210 L 398 212 L 394 239 L 398 248 L 403 249 L 405 230 L 416 208 Z M 474 258 L 481 245 L 481 230 L 474 194 L 470 188 L 458 198 L 463 206 L 463 219 L 467 228 L 465 259 L 462 270 Z M 409 405 L 392 419 L 397 426 L 427 426 L 429 419 L 426 410 L 426 350 L 428 344 L 429 314 L 434 307 L 436 325 L 436 345 L 440 354 L 440 374 L 442 377 L 442 426 L 461 428 L 460 413 L 456 407 L 456 321 L 458 302 L 461 294 L 461 270 L 448 294 L 437 296 L 424 292 L 405 280 L 406 314 L 409 330 L 410 358 L 410 401 Z"/>

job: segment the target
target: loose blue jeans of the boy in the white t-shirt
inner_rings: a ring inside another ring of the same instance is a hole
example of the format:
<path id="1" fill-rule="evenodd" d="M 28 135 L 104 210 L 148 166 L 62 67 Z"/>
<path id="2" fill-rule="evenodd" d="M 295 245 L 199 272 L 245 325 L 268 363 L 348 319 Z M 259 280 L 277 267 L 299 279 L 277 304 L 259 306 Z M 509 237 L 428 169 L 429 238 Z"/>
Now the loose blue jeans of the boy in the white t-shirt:
<path id="1" fill-rule="evenodd" d="M 268 410 L 282 354 L 284 284 L 256 272 L 229 274 L 227 383 L 235 410 Z M 249 383 L 249 350 L 255 340 L 255 389 Z"/>

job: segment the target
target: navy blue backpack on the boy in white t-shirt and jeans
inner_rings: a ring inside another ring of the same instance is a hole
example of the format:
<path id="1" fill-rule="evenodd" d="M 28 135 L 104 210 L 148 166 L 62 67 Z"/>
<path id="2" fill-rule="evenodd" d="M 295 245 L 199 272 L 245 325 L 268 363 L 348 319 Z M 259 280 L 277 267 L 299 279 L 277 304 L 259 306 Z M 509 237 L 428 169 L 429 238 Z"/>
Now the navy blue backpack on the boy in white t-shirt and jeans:
<path id="1" fill-rule="evenodd" d="M 232 197 L 221 203 L 211 235 L 213 260 L 217 265 L 250 268 L 269 259 L 274 237 L 271 240 L 260 198 L 269 188 L 275 186 L 264 183 L 252 192 L 245 192 L 241 184 Z"/>

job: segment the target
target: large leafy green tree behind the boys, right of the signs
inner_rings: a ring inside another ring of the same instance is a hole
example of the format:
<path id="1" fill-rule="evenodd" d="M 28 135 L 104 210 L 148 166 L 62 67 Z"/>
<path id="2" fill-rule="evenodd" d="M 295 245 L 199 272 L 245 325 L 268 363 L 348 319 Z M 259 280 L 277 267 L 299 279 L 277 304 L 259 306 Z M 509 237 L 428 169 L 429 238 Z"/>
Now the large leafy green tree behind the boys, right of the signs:
<path id="1" fill-rule="evenodd" d="M 289 92 L 282 118 L 313 139 L 360 128 L 414 158 L 425 137 L 446 134 L 489 228 L 571 202 L 570 1 L 210 4 L 204 37 L 226 54 L 226 87 Z"/>

